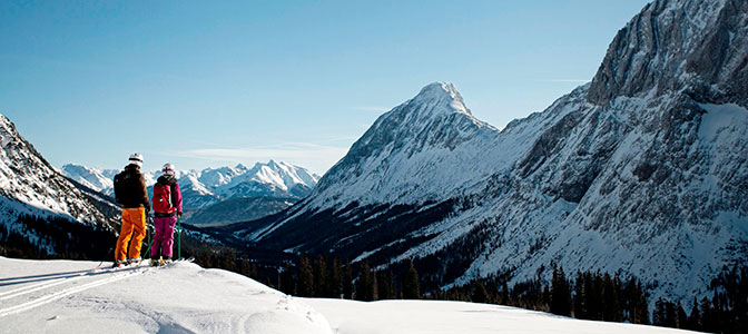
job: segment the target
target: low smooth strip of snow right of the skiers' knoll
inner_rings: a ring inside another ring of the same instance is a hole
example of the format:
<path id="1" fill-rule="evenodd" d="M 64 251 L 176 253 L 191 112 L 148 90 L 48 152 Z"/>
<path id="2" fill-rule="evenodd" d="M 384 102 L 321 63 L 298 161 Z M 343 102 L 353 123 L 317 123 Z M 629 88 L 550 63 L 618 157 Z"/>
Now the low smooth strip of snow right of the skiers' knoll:
<path id="1" fill-rule="evenodd" d="M 335 333 L 357 334 L 526 334 L 526 333 L 695 333 L 663 327 L 579 321 L 523 308 L 441 301 L 312 299 Z"/>

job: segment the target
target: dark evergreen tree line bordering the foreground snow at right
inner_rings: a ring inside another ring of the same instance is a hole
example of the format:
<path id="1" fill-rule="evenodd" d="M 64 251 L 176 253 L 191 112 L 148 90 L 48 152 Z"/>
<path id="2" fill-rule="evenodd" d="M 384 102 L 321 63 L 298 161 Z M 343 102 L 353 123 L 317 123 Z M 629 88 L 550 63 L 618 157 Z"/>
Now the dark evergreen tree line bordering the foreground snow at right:
<path id="1" fill-rule="evenodd" d="M 366 261 L 352 264 L 332 256 L 312 258 L 302 255 L 296 261 L 285 261 L 279 269 L 269 266 L 263 271 L 246 255 L 222 257 L 220 253 L 213 254 L 211 264 L 218 267 L 302 297 L 462 301 L 537 310 L 580 320 L 710 333 L 746 333 L 748 330 L 748 267 L 725 269 L 708 287 L 712 297 L 693 299 L 690 312 L 686 312 L 680 303 L 662 297 L 650 305 L 648 291 L 652 286 L 636 277 L 601 272 L 577 272 L 569 277 L 554 264 L 551 264 L 552 275 L 548 283 L 539 275 L 510 287 L 509 282 L 498 275 L 447 289 L 423 292 L 419 272 L 410 261 L 377 269 Z"/>

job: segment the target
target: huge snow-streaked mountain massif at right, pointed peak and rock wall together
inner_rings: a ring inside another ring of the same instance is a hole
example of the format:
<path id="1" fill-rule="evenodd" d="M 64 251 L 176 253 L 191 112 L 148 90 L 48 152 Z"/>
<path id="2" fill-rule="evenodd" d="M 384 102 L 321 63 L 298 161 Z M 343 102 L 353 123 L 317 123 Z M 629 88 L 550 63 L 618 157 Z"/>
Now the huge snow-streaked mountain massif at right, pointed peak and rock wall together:
<path id="1" fill-rule="evenodd" d="M 226 229 L 388 265 L 433 285 L 634 275 L 687 301 L 748 263 L 748 2 L 658 0 L 591 84 L 498 130 L 453 85 L 382 115 L 312 195 Z"/>

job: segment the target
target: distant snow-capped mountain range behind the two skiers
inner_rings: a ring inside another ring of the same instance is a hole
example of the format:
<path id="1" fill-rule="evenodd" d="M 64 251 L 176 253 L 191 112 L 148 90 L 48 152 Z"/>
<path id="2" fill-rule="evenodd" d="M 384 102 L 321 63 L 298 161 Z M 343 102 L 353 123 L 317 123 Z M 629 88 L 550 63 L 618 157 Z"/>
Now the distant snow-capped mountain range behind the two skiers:
<path id="1" fill-rule="evenodd" d="M 114 194 L 114 177 L 120 170 L 67 164 L 62 173 L 70 179 L 106 195 Z M 156 183 L 160 170 L 145 171 L 146 184 Z M 220 225 L 275 214 L 306 197 L 319 176 L 306 168 L 269 160 L 235 167 L 178 170 L 183 191 L 185 223 Z"/>

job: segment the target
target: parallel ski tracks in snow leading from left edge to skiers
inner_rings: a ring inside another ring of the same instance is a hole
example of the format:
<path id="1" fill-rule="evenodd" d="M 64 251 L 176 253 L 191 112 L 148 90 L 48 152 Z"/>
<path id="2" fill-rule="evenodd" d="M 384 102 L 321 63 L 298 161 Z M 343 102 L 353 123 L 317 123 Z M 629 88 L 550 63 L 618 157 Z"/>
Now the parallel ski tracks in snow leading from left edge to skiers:
<path id="1" fill-rule="evenodd" d="M 11 314 L 21 313 L 21 312 L 26 312 L 26 311 L 32 310 L 35 307 L 38 307 L 38 306 L 41 306 L 41 305 L 45 305 L 45 304 L 49 304 L 49 303 L 55 302 L 57 299 L 67 297 L 69 295 L 87 291 L 87 289 L 92 288 L 92 287 L 101 286 L 101 285 L 109 284 L 109 283 L 115 283 L 115 282 L 118 282 L 118 281 L 121 281 L 121 279 L 125 279 L 125 278 L 129 278 L 129 277 L 132 277 L 135 275 L 139 275 L 139 274 L 145 273 L 148 269 L 150 269 L 151 267 L 137 266 L 137 267 L 126 267 L 125 269 L 100 271 L 101 268 L 102 267 L 96 267 L 96 268 L 94 268 L 94 269 L 91 269 L 87 273 L 81 273 L 77 276 L 55 278 L 55 279 L 52 279 L 52 282 L 41 282 L 41 283 L 24 286 L 24 287 L 21 287 L 21 288 L 2 292 L 2 293 L 0 293 L 0 295 L 2 295 L 2 297 L 0 297 L 0 301 L 19 297 L 19 296 L 22 296 L 22 295 L 26 295 L 26 294 L 29 294 L 29 293 L 32 293 L 32 292 L 46 289 L 46 288 L 49 288 L 49 287 L 52 287 L 52 286 L 62 285 L 62 284 L 66 284 L 66 283 L 76 284 L 77 281 L 82 279 L 82 278 L 87 278 L 87 277 L 111 274 L 110 276 L 107 276 L 107 277 L 104 277 L 104 278 L 100 278 L 100 279 L 95 279 L 95 281 L 85 283 L 82 285 L 73 285 L 71 287 L 66 287 L 66 288 L 62 288 L 60 291 L 53 292 L 51 294 L 46 294 L 46 295 L 42 295 L 40 297 L 32 298 L 31 301 L 28 301 L 28 302 L 22 303 L 22 304 L 0 308 L 0 317 L 11 315 Z M 106 267 L 105 267 L 105 269 L 106 269 Z M 118 273 L 124 273 L 124 274 L 117 275 Z"/>

